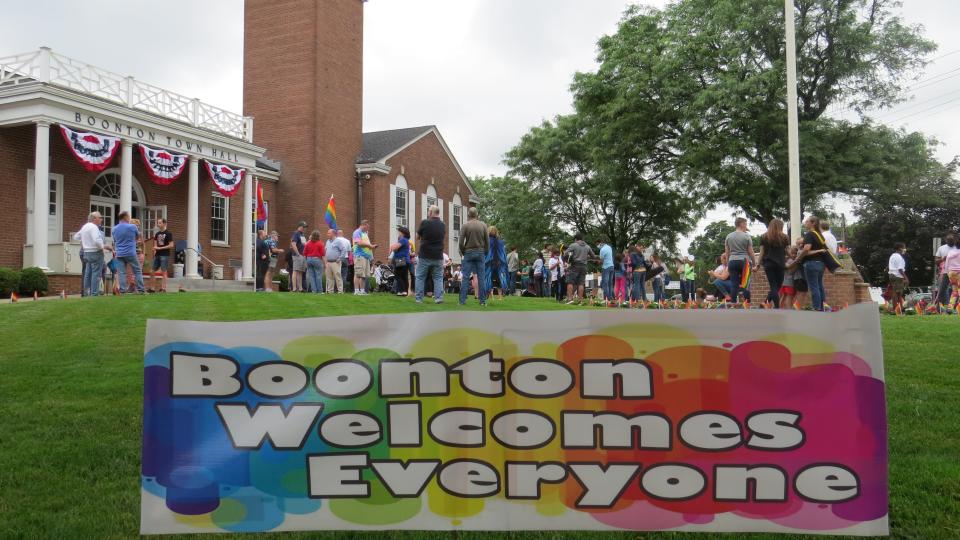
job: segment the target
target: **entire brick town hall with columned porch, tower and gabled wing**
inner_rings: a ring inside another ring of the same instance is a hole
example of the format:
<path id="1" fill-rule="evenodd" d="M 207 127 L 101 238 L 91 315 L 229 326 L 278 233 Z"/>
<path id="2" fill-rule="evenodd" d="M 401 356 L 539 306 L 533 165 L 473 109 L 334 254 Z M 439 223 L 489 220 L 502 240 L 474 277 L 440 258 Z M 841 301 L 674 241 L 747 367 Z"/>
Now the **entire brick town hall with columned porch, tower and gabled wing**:
<path id="1" fill-rule="evenodd" d="M 182 242 L 185 277 L 210 277 L 216 264 L 227 267 L 226 278 L 230 266 L 249 278 L 258 182 L 269 208 L 265 227 L 280 231 L 282 243 L 300 220 L 324 230 L 333 195 L 339 227 L 349 234 L 369 219 L 383 259 L 396 226 L 415 229 L 436 202 L 457 258 L 454 226 L 477 199 L 436 127 L 362 133 L 363 4 L 247 0 L 245 115 L 46 48 L 0 57 L 0 188 L 12 208 L 24 205 L 0 217 L 0 266 L 37 266 L 49 272 L 52 290 L 78 292 L 73 233 L 97 210 L 109 242 L 126 210 L 147 236 L 158 217 L 169 220 Z M 88 172 L 61 126 L 119 138 L 116 157 L 106 170 Z M 154 183 L 139 145 L 185 154 L 189 164 L 173 183 Z M 245 171 L 234 195 L 214 189 L 204 160 Z M 48 183 L 36 184 L 35 176 Z"/>

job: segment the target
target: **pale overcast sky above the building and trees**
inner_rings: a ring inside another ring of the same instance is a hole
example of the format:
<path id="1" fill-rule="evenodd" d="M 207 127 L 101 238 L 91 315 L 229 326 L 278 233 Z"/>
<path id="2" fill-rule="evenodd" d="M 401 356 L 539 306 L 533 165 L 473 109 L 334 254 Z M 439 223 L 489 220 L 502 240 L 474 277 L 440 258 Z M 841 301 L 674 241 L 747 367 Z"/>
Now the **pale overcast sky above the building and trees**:
<path id="1" fill-rule="evenodd" d="M 938 155 L 944 160 L 960 154 L 957 2 L 904 2 L 904 18 L 924 25 L 940 50 L 911 90 L 915 98 L 877 115 L 943 141 Z M 436 124 L 468 175 L 502 174 L 503 153 L 531 126 L 570 112 L 573 73 L 595 67 L 597 39 L 616 30 L 631 3 L 370 0 L 364 23 L 364 130 Z M 241 111 L 241 0 L 33 0 L 5 2 L 3 15 L 0 57 L 47 45 Z M 719 209 L 705 223 L 730 214 Z"/>

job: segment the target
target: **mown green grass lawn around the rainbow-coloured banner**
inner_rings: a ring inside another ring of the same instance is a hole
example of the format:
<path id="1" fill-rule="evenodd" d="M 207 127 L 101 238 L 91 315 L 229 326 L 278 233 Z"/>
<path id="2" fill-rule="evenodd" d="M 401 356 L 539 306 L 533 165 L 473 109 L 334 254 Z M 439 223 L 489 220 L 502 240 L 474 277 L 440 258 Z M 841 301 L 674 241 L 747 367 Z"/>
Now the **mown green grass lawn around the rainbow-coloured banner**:
<path id="1" fill-rule="evenodd" d="M 480 309 L 473 302 L 460 308 L 455 302 L 417 306 L 409 299 L 385 295 L 189 293 L 0 305 L 0 538 L 137 535 L 147 318 L 229 321 Z M 577 308 L 513 298 L 486 309 Z M 960 538 L 960 320 L 884 317 L 883 336 L 891 534 L 894 538 Z M 579 540 L 690 535 L 339 532 L 273 533 L 271 537 L 373 540 L 387 536 Z M 690 537 L 735 536 L 787 538 Z"/>

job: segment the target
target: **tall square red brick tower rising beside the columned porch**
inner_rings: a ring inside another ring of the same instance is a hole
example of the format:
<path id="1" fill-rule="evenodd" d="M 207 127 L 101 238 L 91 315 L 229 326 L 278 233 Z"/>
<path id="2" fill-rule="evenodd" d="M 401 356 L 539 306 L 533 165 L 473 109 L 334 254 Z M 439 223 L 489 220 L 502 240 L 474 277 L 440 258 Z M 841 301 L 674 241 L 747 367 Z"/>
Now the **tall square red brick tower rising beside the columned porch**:
<path id="1" fill-rule="evenodd" d="M 283 163 L 270 228 L 325 231 L 327 199 L 356 227 L 362 145 L 363 0 L 245 0 L 243 111 L 253 142 Z"/>

